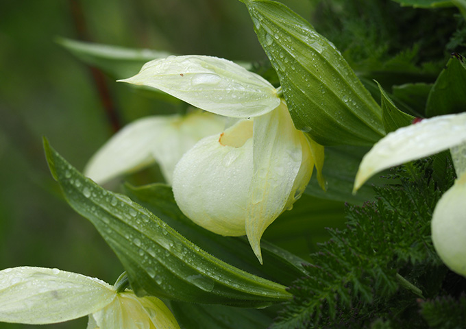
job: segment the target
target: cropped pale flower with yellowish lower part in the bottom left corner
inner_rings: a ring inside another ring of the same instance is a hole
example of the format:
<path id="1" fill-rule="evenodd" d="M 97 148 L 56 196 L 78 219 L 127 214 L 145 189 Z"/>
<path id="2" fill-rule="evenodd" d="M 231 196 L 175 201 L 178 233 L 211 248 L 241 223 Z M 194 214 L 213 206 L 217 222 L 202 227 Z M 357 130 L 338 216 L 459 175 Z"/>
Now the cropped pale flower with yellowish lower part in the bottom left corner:
<path id="1" fill-rule="evenodd" d="M 86 315 L 88 329 L 180 329 L 156 297 L 117 293 L 99 279 L 59 269 L 0 271 L 0 322 L 56 324 Z"/>

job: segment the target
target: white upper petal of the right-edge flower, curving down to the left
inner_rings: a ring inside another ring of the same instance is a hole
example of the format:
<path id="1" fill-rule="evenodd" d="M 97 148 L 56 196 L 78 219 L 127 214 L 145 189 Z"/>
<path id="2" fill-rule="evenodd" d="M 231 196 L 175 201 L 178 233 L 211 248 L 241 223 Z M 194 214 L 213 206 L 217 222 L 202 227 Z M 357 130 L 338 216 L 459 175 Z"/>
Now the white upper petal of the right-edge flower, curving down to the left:
<path id="1" fill-rule="evenodd" d="M 402 127 L 382 138 L 364 156 L 354 191 L 373 174 L 466 142 L 466 113 L 443 115 Z"/>

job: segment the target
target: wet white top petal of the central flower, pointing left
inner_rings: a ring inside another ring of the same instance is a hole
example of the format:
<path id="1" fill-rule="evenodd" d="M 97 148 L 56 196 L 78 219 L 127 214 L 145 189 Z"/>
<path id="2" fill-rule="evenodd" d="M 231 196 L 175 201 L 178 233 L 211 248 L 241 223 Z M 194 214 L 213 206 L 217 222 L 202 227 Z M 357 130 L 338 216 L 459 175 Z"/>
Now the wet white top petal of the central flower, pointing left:
<path id="1" fill-rule="evenodd" d="M 222 58 L 170 56 L 146 63 L 126 80 L 151 86 L 225 117 L 256 117 L 278 106 L 275 88 L 256 73 Z"/>

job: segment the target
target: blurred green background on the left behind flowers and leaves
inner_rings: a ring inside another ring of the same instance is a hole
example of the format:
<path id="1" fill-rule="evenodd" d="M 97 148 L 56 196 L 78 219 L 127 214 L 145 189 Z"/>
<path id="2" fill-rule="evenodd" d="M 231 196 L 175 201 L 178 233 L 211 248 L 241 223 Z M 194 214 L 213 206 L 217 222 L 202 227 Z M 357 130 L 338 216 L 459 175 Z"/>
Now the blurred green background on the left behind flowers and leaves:
<path id="1" fill-rule="evenodd" d="M 312 1 L 282 2 L 310 18 Z M 1 1 L 0 269 L 56 267 L 113 283 L 119 261 L 64 202 L 42 151 L 46 136 L 82 169 L 112 134 L 93 75 L 56 43 L 60 36 L 230 60 L 266 57 L 237 0 Z M 121 125 L 171 110 L 113 78 L 104 82 Z M 86 321 L 40 328 L 86 328 Z"/>

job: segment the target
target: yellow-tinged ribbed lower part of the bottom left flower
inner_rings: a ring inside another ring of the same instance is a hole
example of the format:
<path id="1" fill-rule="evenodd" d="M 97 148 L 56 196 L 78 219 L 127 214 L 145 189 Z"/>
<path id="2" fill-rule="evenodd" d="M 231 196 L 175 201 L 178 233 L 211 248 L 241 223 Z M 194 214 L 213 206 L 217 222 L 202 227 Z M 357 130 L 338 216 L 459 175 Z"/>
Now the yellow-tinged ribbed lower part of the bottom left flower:
<path id="1" fill-rule="evenodd" d="M 180 329 L 169 308 L 156 297 L 119 293 L 114 301 L 89 315 L 87 329 Z"/>

